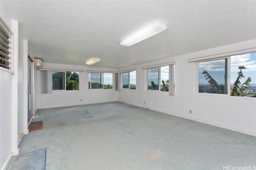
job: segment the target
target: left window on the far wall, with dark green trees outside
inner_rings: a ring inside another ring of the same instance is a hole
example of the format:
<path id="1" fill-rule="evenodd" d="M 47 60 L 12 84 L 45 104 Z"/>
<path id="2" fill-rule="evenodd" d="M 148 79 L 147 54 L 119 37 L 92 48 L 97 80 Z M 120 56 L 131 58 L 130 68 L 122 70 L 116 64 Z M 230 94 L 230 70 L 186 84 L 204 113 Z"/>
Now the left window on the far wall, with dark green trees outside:
<path id="1" fill-rule="evenodd" d="M 52 90 L 79 90 L 79 72 L 52 71 Z"/>

